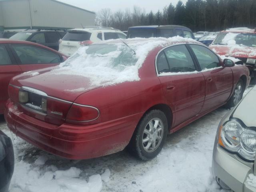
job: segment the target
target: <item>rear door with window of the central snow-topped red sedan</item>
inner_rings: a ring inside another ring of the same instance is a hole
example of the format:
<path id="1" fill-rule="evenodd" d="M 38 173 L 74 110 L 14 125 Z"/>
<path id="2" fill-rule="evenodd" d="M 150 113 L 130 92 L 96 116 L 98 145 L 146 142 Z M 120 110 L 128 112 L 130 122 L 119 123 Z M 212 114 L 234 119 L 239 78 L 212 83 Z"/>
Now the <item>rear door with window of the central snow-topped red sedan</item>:
<path id="1" fill-rule="evenodd" d="M 185 45 L 165 48 L 156 60 L 158 78 L 176 126 L 196 116 L 204 104 L 205 81 Z"/>

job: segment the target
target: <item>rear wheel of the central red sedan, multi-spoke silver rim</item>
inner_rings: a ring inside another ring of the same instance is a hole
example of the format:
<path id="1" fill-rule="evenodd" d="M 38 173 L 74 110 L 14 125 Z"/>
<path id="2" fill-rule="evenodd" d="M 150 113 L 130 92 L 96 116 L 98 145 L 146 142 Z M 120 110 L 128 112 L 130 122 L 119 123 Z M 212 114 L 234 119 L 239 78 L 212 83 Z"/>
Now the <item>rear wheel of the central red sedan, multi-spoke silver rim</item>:
<path id="1" fill-rule="evenodd" d="M 150 160 L 162 150 L 168 132 L 168 122 L 164 112 L 151 110 L 134 131 L 128 149 L 141 160 Z"/>

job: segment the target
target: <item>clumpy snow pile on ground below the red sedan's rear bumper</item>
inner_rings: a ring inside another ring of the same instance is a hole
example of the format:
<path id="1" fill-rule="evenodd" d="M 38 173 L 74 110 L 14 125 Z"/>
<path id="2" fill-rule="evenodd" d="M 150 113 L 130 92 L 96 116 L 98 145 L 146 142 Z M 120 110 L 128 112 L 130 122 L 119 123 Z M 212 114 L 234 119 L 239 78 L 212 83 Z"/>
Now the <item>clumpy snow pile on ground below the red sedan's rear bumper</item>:
<path id="1" fill-rule="evenodd" d="M 36 164 L 36 163 L 35 163 Z M 82 170 L 70 167 L 58 170 L 56 166 L 46 166 L 43 170 L 21 160 L 16 162 L 10 189 L 12 192 L 100 192 L 102 180 L 99 174 L 81 179 Z"/>

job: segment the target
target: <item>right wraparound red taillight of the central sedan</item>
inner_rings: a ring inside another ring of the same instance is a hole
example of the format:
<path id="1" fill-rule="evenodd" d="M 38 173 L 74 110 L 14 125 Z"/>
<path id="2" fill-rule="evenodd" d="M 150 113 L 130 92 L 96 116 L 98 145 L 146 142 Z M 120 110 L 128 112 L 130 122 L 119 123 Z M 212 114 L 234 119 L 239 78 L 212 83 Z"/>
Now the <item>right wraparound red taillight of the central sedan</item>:
<path id="1" fill-rule="evenodd" d="M 100 111 L 92 106 L 72 104 L 66 120 L 74 122 L 90 122 L 100 116 Z"/>

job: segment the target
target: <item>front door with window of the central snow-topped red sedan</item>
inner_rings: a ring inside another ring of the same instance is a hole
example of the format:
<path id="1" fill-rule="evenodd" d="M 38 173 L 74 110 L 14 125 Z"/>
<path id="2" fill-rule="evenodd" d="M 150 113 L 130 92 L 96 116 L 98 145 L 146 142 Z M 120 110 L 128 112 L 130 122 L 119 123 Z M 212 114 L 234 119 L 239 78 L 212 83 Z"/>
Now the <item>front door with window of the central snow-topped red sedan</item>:
<path id="1" fill-rule="evenodd" d="M 226 102 L 233 88 L 233 72 L 222 67 L 218 56 L 202 45 L 191 44 L 205 80 L 205 101 L 202 112 Z"/>

